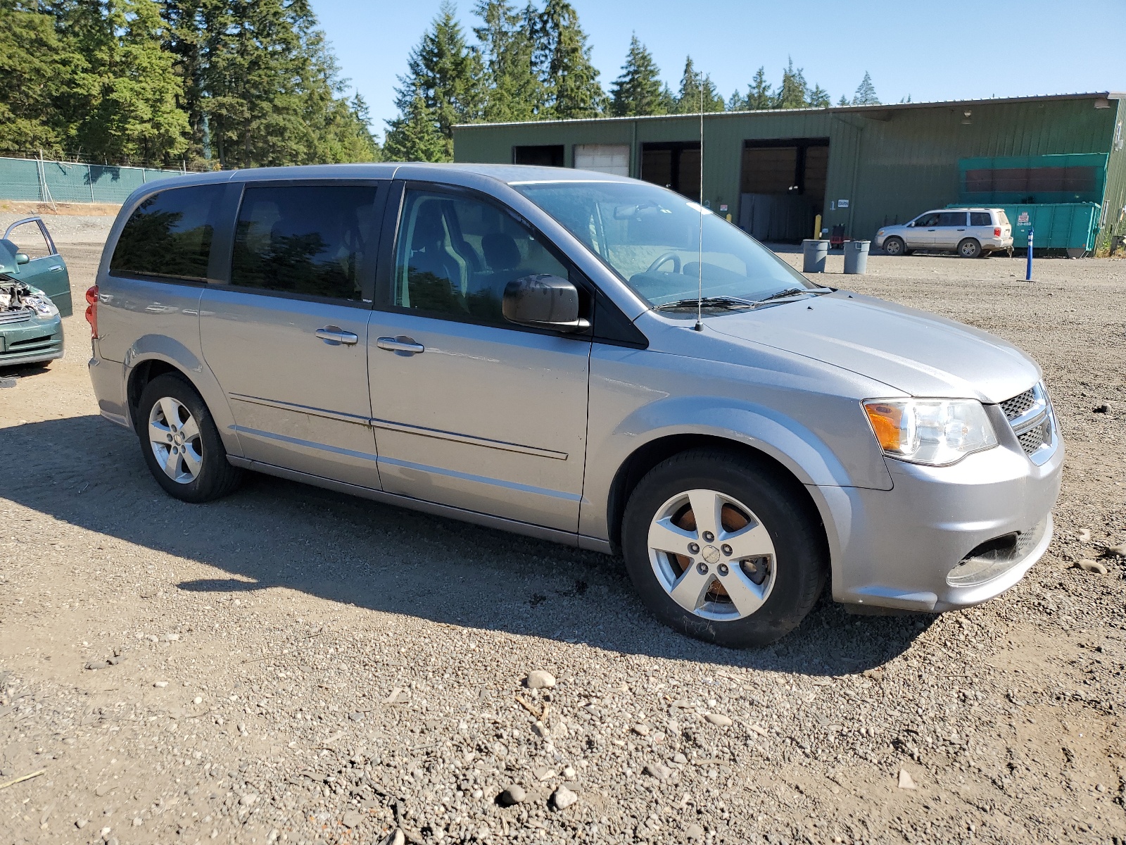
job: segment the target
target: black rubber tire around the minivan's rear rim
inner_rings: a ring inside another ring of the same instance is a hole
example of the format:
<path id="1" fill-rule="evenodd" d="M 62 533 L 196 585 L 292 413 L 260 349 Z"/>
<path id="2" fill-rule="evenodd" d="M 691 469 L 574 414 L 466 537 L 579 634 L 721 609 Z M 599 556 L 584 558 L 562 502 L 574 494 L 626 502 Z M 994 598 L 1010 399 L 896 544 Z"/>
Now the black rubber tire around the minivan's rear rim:
<path id="1" fill-rule="evenodd" d="M 198 438 L 194 438 L 194 447 L 198 448 L 199 470 L 188 482 L 172 479 L 158 462 L 149 438 L 149 420 L 153 406 L 162 399 L 171 398 L 184 406 L 196 421 Z M 226 450 L 218 436 L 215 420 L 212 419 L 203 397 L 182 376 L 167 373 L 153 379 L 141 393 L 137 403 L 136 432 L 141 442 L 141 454 L 149 465 L 157 483 L 164 488 L 169 496 L 199 504 L 222 498 L 231 492 L 242 481 L 242 470 L 232 466 L 226 460 Z"/>

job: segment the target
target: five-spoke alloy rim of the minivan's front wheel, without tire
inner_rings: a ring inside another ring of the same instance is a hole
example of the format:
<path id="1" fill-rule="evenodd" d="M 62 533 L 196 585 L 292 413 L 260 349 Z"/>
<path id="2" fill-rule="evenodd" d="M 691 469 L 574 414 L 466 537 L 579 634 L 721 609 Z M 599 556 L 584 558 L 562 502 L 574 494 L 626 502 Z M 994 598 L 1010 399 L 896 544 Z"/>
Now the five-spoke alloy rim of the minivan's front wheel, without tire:
<path id="1" fill-rule="evenodd" d="M 658 509 L 649 559 L 672 601 L 708 620 L 750 616 L 775 585 L 775 548 L 766 526 L 716 490 L 688 490 Z"/>

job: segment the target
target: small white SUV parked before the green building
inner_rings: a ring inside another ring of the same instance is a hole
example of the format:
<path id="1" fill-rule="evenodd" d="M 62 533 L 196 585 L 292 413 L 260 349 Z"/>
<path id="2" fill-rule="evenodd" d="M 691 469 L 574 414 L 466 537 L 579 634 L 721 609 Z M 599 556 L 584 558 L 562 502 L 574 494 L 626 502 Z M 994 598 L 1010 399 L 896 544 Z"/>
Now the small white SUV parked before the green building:
<path id="1" fill-rule="evenodd" d="M 926 250 L 977 258 L 1012 249 L 1012 226 L 1004 208 L 940 208 L 910 223 L 884 226 L 876 232 L 876 247 L 890 256 Z"/>

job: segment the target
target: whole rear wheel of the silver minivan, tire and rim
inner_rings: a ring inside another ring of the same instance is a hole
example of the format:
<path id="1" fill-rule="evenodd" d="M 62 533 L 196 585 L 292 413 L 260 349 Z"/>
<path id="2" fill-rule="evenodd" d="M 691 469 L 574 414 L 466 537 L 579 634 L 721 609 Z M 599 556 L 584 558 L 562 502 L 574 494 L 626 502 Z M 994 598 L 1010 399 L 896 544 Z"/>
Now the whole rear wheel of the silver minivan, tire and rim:
<path id="1" fill-rule="evenodd" d="M 227 463 L 203 398 L 180 376 L 161 375 L 145 385 L 136 422 L 145 463 L 169 496 L 211 501 L 242 480 L 242 471 Z"/>

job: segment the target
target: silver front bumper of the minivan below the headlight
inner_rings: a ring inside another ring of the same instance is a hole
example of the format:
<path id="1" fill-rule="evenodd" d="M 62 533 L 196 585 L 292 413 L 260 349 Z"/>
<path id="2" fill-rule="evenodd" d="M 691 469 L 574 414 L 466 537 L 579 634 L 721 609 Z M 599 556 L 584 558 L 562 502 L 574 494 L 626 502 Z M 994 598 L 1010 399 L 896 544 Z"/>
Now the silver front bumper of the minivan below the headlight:
<path id="1" fill-rule="evenodd" d="M 1037 463 L 1011 429 L 999 430 L 999 439 L 953 466 L 890 460 L 891 490 L 817 488 L 833 598 L 940 612 L 988 602 L 1017 584 L 1052 541 L 1064 446 L 1054 420 L 1053 445 Z M 998 540 L 1009 545 L 981 553 Z"/>

